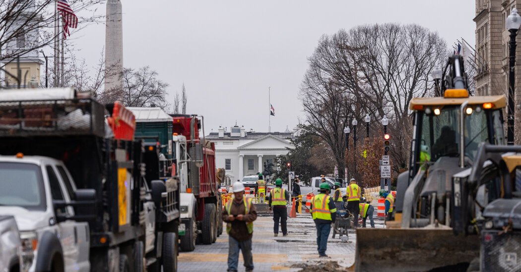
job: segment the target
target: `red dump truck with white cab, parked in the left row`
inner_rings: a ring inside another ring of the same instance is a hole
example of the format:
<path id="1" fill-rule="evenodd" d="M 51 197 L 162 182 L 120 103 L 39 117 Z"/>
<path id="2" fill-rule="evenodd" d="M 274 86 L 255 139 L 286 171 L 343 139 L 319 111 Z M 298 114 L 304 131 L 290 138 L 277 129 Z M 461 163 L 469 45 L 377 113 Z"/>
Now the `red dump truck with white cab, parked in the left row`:
<path id="1" fill-rule="evenodd" d="M 203 116 L 171 116 L 172 149 L 181 182 L 180 248 L 193 251 L 196 243 L 214 243 L 223 230 L 215 144 L 204 138 Z"/>

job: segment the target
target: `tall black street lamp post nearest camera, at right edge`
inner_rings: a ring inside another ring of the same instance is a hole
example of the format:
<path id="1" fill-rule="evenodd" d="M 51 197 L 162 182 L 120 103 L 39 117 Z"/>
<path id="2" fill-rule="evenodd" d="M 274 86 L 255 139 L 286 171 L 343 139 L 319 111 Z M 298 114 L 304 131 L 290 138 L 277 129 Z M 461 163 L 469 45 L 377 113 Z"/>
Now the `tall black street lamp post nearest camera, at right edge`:
<path id="1" fill-rule="evenodd" d="M 512 13 L 506 18 L 506 29 L 510 31 L 510 73 L 508 74 L 510 84 L 508 86 L 508 123 L 507 123 L 507 145 L 514 144 L 514 83 L 515 83 L 515 64 L 516 64 L 516 35 L 521 27 L 521 16 L 517 14 L 517 8 L 512 9 Z"/>

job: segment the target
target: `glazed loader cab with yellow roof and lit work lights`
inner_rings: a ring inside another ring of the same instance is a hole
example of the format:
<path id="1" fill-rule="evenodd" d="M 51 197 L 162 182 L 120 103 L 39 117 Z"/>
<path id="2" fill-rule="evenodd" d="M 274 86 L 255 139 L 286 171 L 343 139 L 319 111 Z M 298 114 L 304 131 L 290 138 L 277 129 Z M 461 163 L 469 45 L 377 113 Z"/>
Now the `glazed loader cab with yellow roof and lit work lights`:
<path id="1" fill-rule="evenodd" d="M 454 92 L 451 92 L 454 91 Z M 468 97 L 463 90 L 446 90 L 445 97 L 414 98 L 414 135 L 410 176 L 444 157 L 460 157 L 461 111 L 464 122 L 464 161 L 472 165 L 478 144 L 504 145 L 502 108 L 504 96 Z M 461 108 L 463 103 L 468 105 Z M 461 167 L 461 165 L 458 165 Z"/>

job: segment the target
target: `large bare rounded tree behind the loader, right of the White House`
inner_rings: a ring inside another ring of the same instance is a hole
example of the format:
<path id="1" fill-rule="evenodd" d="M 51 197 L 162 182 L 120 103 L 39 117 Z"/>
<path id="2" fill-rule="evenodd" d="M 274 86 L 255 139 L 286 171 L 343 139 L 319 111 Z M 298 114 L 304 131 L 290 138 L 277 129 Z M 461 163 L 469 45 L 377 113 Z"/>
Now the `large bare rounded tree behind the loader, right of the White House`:
<path id="1" fill-rule="evenodd" d="M 320 38 L 309 58 L 301 99 L 308 126 L 330 146 L 339 169 L 346 163 L 343 127 L 353 119 L 364 123 L 366 114 L 376 123 L 371 126 L 378 127 L 373 134 L 381 133 L 383 115 L 391 119 L 393 166 L 397 170 L 407 162 L 409 102 L 431 93 L 430 73 L 446 56 L 439 35 L 414 24 L 363 25 Z M 353 151 L 350 156 L 359 157 Z"/>

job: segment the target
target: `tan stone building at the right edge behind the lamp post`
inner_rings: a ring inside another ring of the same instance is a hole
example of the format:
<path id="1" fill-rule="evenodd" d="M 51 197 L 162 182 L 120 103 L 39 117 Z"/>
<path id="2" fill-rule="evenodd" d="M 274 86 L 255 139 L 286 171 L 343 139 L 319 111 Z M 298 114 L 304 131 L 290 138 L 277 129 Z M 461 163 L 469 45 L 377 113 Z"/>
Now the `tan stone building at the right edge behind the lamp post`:
<path id="1" fill-rule="evenodd" d="M 508 99 L 508 55 L 510 32 L 506 18 L 519 0 L 476 0 L 476 93 L 506 95 Z M 521 143 L 521 30 L 517 33 L 515 83 L 515 142 Z M 506 129 L 507 112 L 503 112 Z M 506 135 L 506 134 L 505 134 Z"/>

